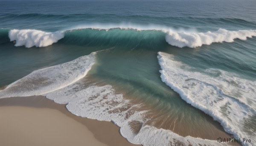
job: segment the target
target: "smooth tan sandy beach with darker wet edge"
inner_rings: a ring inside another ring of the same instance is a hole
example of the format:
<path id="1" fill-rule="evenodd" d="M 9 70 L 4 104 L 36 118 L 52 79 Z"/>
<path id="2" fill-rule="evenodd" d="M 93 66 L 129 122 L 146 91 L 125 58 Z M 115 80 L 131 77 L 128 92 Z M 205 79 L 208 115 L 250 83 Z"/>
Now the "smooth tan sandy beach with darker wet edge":
<path id="1" fill-rule="evenodd" d="M 2 98 L 0 117 L 1 146 L 136 146 L 113 123 L 78 117 L 44 96 Z"/>

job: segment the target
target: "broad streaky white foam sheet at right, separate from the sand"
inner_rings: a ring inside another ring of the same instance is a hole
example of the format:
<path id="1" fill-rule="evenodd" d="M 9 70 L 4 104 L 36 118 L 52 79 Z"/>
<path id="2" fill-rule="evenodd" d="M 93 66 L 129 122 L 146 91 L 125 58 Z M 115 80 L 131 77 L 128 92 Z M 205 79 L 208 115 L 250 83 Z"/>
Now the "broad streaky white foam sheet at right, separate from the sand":
<path id="1" fill-rule="evenodd" d="M 219 69 L 191 71 L 191 67 L 175 61 L 173 55 L 162 52 L 158 53 L 158 60 L 162 81 L 183 100 L 212 116 L 236 139 L 251 140 L 243 145 L 256 143 L 256 82 Z"/>

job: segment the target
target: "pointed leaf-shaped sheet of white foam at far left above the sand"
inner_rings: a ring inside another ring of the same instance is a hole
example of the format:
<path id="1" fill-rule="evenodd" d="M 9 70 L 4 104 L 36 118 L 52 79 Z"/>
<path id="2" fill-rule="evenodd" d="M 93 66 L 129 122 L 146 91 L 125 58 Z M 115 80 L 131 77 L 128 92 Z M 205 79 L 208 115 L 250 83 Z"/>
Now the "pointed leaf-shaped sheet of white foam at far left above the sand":
<path id="1" fill-rule="evenodd" d="M 96 53 L 36 70 L 0 91 L 0 98 L 41 95 L 68 86 L 84 77 L 96 61 Z"/>

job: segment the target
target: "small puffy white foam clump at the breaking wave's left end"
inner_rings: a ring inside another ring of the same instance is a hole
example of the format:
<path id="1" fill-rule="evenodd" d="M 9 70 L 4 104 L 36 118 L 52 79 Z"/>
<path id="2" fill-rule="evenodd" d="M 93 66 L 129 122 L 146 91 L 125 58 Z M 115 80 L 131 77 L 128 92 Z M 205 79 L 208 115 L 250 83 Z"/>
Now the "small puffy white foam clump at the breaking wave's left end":
<path id="1" fill-rule="evenodd" d="M 16 41 L 15 46 L 45 47 L 58 42 L 64 37 L 62 32 L 45 32 L 35 29 L 12 29 L 9 31 L 11 41 Z"/>

